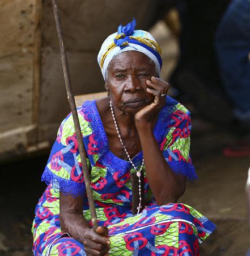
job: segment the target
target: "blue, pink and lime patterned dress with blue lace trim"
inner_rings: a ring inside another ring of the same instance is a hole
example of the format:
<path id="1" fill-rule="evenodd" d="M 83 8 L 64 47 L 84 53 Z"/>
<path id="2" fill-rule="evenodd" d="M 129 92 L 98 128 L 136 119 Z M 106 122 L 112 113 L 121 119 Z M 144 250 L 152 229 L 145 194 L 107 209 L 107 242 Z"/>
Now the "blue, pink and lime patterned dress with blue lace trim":
<path id="1" fill-rule="evenodd" d="M 179 102 L 166 97 L 154 135 L 172 170 L 193 181 L 197 176 L 189 156 L 189 114 Z M 84 102 L 78 115 L 87 162 L 91 165 L 99 225 L 109 229 L 109 255 L 200 255 L 198 244 L 213 232 L 215 225 L 188 205 L 156 205 L 146 175 L 146 208 L 133 215 L 130 172 L 135 170 L 109 150 L 95 101 Z M 132 160 L 136 167 L 141 166 L 142 152 Z M 81 167 L 73 118 L 69 114 L 58 130 L 42 177 L 48 187 L 35 210 L 32 227 L 35 255 L 86 255 L 80 242 L 61 232 L 58 215 L 59 191 L 62 191 L 65 195 L 84 196 L 83 216 L 90 221 Z"/>

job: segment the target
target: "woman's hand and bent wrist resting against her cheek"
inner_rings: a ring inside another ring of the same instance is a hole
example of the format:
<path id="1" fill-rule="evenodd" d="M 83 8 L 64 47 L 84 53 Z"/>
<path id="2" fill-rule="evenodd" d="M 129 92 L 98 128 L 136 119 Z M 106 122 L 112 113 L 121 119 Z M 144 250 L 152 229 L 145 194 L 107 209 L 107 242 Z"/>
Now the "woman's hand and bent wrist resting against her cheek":
<path id="1" fill-rule="evenodd" d="M 166 94 L 168 92 L 169 84 L 162 79 L 151 77 L 150 80 L 146 80 L 146 85 L 150 88 L 147 88 L 147 93 L 154 96 L 154 101 L 151 104 L 146 105 L 144 108 L 139 110 L 135 116 L 135 125 L 144 126 L 147 124 L 152 124 L 157 117 L 159 110 L 165 105 Z"/>

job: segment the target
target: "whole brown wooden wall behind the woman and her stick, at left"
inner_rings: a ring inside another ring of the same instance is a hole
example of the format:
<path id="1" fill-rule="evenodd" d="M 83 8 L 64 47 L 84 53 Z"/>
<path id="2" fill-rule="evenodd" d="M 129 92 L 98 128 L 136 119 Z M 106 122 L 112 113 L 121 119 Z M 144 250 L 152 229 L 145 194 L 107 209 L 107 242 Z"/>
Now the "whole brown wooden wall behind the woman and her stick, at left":
<path id="1" fill-rule="evenodd" d="M 75 95 L 104 90 L 96 60 L 103 40 L 133 17 L 148 29 L 166 2 L 58 0 Z M 53 142 L 69 113 L 52 4 L 1 0 L 0 15 L 0 152 L 25 154 Z"/>

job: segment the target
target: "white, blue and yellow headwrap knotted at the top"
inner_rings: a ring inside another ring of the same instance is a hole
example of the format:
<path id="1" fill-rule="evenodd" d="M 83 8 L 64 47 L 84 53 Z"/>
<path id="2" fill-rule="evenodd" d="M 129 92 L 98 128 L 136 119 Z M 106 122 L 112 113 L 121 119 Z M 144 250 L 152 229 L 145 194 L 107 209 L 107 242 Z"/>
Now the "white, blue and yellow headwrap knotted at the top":
<path id="1" fill-rule="evenodd" d="M 134 30 L 136 21 L 120 25 L 118 31 L 103 42 L 98 53 L 98 63 L 103 73 L 104 80 L 107 79 L 108 65 L 119 53 L 126 51 L 138 51 L 147 55 L 155 63 L 155 71 L 160 75 L 162 68 L 162 58 L 160 57 L 160 47 L 152 35 L 143 30 Z"/>

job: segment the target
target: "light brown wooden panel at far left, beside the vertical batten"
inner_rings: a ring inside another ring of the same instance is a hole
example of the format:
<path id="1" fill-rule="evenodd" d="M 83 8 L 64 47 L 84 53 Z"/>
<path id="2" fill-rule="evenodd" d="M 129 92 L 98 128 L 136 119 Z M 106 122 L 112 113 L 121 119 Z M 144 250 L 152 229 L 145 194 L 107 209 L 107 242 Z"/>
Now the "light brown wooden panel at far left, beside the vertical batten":
<path id="1" fill-rule="evenodd" d="M 1 127 L 32 124 L 36 1 L 1 1 Z"/>

